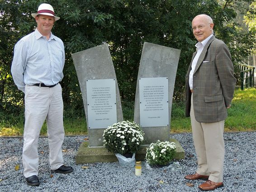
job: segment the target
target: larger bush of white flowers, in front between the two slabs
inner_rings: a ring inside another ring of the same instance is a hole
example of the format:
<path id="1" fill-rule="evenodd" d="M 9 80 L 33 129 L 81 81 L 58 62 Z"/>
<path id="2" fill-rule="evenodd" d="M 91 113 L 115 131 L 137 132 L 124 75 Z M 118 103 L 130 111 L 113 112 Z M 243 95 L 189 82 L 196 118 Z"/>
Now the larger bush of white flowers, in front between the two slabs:
<path id="1" fill-rule="evenodd" d="M 129 121 L 114 123 L 104 130 L 104 146 L 114 154 L 136 153 L 143 144 L 142 127 Z"/>

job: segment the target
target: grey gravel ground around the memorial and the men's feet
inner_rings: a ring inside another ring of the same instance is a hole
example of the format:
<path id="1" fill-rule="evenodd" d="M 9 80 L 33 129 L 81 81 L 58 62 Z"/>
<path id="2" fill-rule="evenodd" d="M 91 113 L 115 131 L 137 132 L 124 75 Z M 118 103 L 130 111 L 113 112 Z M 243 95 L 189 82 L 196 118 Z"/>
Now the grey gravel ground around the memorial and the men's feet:
<path id="1" fill-rule="evenodd" d="M 22 166 L 22 138 L 0 138 L 0 192 L 198 192 L 203 180 L 189 181 L 184 176 L 196 170 L 196 154 L 191 133 L 171 135 L 180 141 L 185 159 L 172 167 L 147 169 L 142 162 L 142 176 L 135 168 L 116 163 L 76 165 L 76 153 L 86 136 L 66 136 L 62 145 L 66 165 L 74 168 L 70 174 L 51 176 L 47 138 L 39 138 L 40 185 L 25 183 Z M 215 192 L 256 191 L 256 132 L 224 133 L 224 187 Z M 15 170 L 15 167 L 18 167 Z"/>

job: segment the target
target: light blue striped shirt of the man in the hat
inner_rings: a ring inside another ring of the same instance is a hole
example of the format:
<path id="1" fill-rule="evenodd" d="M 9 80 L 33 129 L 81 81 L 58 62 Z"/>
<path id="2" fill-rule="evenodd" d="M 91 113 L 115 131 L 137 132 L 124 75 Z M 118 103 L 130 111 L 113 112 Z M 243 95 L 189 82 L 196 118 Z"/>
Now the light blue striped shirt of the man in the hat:
<path id="1" fill-rule="evenodd" d="M 64 63 L 62 40 L 52 33 L 47 40 L 36 29 L 16 43 L 11 73 L 18 89 L 25 92 L 25 84 L 57 84 L 63 78 Z"/>

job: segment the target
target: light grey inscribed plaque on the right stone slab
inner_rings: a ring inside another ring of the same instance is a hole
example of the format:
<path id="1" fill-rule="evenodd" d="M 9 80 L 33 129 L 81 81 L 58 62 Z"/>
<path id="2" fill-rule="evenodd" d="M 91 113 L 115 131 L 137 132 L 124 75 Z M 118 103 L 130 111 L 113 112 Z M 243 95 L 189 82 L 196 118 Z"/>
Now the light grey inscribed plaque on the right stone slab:
<path id="1" fill-rule="evenodd" d="M 169 126 L 168 78 L 140 78 L 140 124 L 142 127 Z"/>

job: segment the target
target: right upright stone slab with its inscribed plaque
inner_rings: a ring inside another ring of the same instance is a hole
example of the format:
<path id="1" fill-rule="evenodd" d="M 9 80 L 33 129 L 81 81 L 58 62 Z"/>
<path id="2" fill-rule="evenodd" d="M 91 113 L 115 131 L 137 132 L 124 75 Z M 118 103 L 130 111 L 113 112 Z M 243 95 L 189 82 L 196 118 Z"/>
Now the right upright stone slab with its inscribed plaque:
<path id="1" fill-rule="evenodd" d="M 141 124 L 145 144 L 170 140 L 172 97 L 180 50 L 145 42 L 134 103 L 134 122 Z"/>

